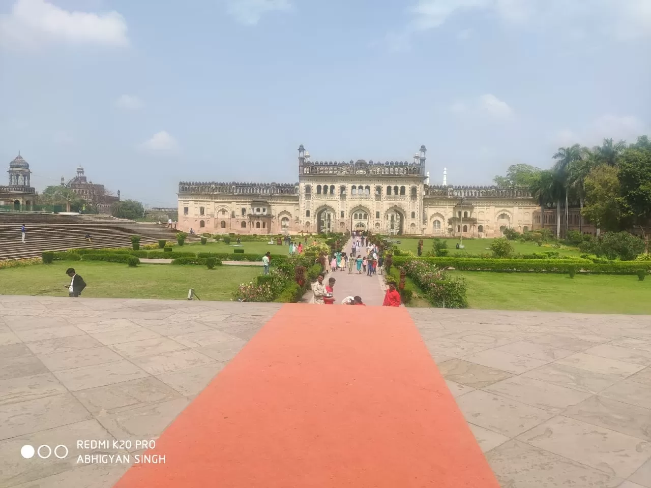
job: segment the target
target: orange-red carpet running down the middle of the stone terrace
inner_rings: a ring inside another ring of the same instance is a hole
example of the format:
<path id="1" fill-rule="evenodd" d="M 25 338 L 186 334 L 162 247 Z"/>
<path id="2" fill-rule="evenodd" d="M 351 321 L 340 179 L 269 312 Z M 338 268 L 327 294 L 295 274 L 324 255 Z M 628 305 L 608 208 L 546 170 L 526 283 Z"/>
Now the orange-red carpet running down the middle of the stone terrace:
<path id="1" fill-rule="evenodd" d="M 284 305 L 117 488 L 499 488 L 404 308 Z"/>

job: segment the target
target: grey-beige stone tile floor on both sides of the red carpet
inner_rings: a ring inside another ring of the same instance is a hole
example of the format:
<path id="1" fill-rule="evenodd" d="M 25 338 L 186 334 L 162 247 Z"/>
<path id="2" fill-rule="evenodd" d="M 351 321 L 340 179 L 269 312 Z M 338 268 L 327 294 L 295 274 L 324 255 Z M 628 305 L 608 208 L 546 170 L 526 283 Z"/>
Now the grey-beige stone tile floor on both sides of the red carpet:
<path id="1" fill-rule="evenodd" d="M 0 295 L 0 488 L 111 487 L 77 455 L 141 448 L 76 442 L 156 439 L 279 307 Z M 503 487 L 651 488 L 651 317 L 409 314 Z"/>

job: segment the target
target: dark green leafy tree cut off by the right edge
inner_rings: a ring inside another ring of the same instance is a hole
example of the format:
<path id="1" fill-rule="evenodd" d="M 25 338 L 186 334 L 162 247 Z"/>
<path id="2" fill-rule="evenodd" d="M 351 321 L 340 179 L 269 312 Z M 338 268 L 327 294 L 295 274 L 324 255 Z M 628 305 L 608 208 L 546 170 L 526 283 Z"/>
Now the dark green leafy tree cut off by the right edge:
<path id="1" fill-rule="evenodd" d="M 617 176 L 624 226 L 638 227 L 644 234 L 644 226 L 651 220 L 651 148 L 624 151 Z"/>

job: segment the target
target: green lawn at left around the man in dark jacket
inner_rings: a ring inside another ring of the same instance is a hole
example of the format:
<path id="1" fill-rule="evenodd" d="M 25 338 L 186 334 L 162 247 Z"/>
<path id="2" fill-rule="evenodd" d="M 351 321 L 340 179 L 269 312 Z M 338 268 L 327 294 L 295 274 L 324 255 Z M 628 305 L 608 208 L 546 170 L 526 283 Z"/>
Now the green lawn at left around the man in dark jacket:
<path id="1" fill-rule="evenodd" d="M 126 264 L 103 262 L 54 262 L 0 270 L 0 280 L 8 286 L 3 293 L 66 297 L 70 278 L 66 269 L 74 267 L 87 283 L 84 297 L 186 299 L 194 288 L 202 300 L 229 301 L 242 282 L 262 273 L 257 266 L 205 266 L 171 264 Z"/>

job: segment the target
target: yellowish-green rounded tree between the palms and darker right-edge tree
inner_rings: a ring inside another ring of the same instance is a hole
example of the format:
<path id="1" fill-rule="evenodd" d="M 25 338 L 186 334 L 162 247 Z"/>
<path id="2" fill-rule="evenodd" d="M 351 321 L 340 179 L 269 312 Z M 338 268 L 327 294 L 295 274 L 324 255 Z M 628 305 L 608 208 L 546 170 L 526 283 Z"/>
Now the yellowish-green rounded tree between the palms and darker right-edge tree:
<path id="1" fill-rule="evenodd" d="M 611 232 L 620 230 L 622 211 L 619 192 L 616 168 L 601 165 L 590 170 L 585 178 L 585 218 L 600 229 Z"/>

